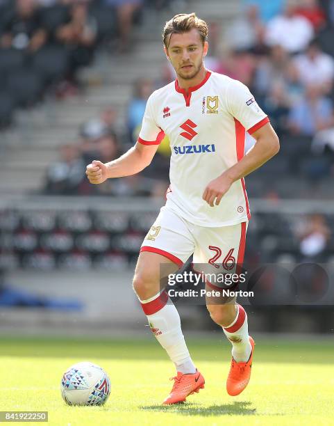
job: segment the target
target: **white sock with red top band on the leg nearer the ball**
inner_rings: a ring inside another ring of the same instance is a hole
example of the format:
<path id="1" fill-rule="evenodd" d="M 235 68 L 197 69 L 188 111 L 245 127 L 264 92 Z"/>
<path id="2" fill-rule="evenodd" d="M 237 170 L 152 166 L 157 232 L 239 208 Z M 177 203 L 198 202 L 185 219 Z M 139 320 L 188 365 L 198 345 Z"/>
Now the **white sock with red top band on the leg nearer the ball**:
<path id="1" fill-rule="evenodd" d="M 160 299 L 160 302 L 158 301 Z M 162 300 L 162 301 L 161 301 Z M 169 358 L 176 365 L 176 370 L 183 374 L 193 374 L 196 372 L 196 367 L 190 358 L 185 338 L 181 329 L 181 319 L 178 311 L 169 300 L 162 294 L 147 301 L 140 301 L 144 313 L 149 320 L 149 326 L 160 345 L 166 350 Z M 150 303 L 151 306 L 148 305 Z M 161 305 L 165 303 L 165 306 Z M 153 306 L 153 309 L 151 309 Z M 156 308 L 154 308 L 156 306 Z M 156 312 L 154 312 L 158 309 Z M 149 313 L 149 315 L 148 315 Z"/>

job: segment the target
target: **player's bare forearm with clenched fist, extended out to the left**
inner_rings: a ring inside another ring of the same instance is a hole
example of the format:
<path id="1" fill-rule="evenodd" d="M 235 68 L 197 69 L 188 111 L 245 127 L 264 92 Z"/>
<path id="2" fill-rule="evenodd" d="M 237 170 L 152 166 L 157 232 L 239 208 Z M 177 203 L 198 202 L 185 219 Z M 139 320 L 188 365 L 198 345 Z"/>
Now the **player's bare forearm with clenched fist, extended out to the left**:
<path id="1" fill-rule="evenodd" d="M 102 163 L 94 160 L 88 164 L 86 175 L 92 184 L 100 184 L 109 178 L 122 178 L 123 176 L 135 175 L 151 164 L 156 154 L 158 145 L 142 145 L 137 142 L 121 157 Z"/>

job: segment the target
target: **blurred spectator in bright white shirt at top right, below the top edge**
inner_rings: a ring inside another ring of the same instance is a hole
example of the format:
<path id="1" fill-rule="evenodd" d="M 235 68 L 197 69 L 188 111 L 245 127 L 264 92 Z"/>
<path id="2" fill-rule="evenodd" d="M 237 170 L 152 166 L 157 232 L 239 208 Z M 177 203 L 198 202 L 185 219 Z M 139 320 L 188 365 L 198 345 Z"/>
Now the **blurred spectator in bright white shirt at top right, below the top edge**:
<path id="1" fill-rule="evenodd" d="M 287 52 L 298 53 L 312 40 L 313 27 L 303 16 L 296 15 L 296 1 L 288 1 L 284 13 L 267 24 L 265 40 L 268 46 L 281 45 Z"/>

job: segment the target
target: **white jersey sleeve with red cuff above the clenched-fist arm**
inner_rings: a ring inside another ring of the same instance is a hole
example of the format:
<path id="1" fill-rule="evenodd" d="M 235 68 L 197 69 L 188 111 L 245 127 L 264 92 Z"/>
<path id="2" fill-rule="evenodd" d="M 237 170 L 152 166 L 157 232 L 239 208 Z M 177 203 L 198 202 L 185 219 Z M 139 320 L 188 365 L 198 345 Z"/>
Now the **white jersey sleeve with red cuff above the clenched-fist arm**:
<path id="1" fill-rule="evenodd" d="M 142 145 L 159 145 L 165 137 L 165 132 L 156 124 L 154 118 L 153 94 L 147 100 L 142 128 L 138 137 L 138 142 Z"/>

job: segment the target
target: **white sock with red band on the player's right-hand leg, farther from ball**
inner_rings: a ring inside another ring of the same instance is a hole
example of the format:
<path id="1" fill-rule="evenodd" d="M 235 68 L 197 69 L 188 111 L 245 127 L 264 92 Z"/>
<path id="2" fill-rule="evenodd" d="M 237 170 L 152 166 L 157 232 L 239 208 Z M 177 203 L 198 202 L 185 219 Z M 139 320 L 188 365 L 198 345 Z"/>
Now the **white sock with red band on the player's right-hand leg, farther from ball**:
<path id="1" fill-rule="evenodd" d="M 237 316 L 234 321 L 223 331 L 232 343 L 232 356 L 237 363 L 247 362 L 251 356 L 251 343 L 249 342 L 247 313 L 241 305 L 237 305 Z"/>

